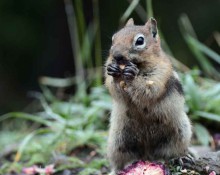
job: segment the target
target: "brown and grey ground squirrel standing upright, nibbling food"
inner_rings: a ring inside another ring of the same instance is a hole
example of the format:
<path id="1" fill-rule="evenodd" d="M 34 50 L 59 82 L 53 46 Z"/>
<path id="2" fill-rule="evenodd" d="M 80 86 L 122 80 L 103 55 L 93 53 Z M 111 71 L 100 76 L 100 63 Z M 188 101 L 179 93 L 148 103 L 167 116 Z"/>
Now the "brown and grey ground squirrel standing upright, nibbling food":
<path id="1" fill-rule="evenodd" d="M 191 124 L 183 89 L 160 47 L 156 21 L 130 19 L 112 37 L 105 85 L 113 98 L 108 138 L 112 172 L 136 160 L 170 159 L 187 153 Z"/>

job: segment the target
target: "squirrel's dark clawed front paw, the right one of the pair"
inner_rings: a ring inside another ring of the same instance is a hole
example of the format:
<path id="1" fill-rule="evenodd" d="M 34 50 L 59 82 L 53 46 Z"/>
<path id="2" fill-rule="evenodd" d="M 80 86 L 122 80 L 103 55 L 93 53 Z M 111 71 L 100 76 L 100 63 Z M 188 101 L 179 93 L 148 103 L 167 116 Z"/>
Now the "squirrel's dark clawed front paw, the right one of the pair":
<path id="1" fill-rule="evenodd" d="M 134 77 L 139 73 L 139 69 L 137 68 L 137 66 L 132 63 L 129 62 L 129 64 L 127 64 L 123 70 L 123 76 L 125 77 L 125 79 L 130 80 L 130 79 L 134 79 Z"/>

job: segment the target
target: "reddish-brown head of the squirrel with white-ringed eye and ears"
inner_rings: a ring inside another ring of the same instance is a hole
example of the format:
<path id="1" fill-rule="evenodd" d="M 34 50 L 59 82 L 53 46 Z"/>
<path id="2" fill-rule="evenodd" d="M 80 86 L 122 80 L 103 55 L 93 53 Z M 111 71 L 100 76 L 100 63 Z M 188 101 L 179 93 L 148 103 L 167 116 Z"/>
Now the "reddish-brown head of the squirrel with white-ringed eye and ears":
<path id="1" fill-rule="evenodd" d="M 141 63 L 158 55 L 160 50 L 156 20 L 150 18 L 145 25 L 138 26 L 134 25 L 134 20 L 130 18 L 126 25 L 113 35 L 109 58 L 116 62 Z"/>

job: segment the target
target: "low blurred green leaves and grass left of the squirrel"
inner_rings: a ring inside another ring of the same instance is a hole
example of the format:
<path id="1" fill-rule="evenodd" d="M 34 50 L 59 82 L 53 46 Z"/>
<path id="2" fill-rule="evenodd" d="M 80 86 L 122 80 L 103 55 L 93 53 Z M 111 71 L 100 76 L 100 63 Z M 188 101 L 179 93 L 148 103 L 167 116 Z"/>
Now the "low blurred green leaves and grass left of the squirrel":
<path id="1" fill-rule="evenodd" d="M 93 170 L 95 168 L 95 171 L 99 172 L 100 166 L 106 165 L 106 160 L 102 156 L 98 156 L 94 162 L 88 165 L 77 157 L 72 159 L 71 156 L 67 156 L 74 149 L 85 145 L 95 150 L 97 155 L 105 154 L 106 128 L 108 125 L 107 111 L 111 109 L 110 96 L 102 86 L 92 88 L 91 93 L 86 94 L 86 96 L 82 91 L 82 94 L 72 97 L 69 102 L 62 102 L 56 98 L 51 101 L 51 94 L 47 93 L 50 92 L 45 91 L 45 94 L 35 95 L 40 100 L 43 107 L 42 111 L 34 115 L 11 112 L 1 116 L 0 122 L 14 121 L 16 123 L 20 120 L 26 120 L 26 122 L 20 123 L 19 126 L 15 125 L 13 131 L 5 127 L 0 135 L 2 141 L 0 150 L 3 153 L 0 157 L 5 156 L 5 149 L 8 149 L 8 147 L 12 153 L 16 152 L 12 160 L 6 159 L 2 162 L 4 166 L 1 167 L 0 173 L 12 170 L 18 172 L 23 166 L 45 165 L 51 161 L 57 163 L 57 170 L 67 168 L 63 163 L 68 162 L 71 168 L 74 168 L 74 166 L 78 166 L 78 168 L 89 167 Z M 16 132 L 16 130 L 19 132 Z M 14 147 L 10 148 L 11 145 Z M 84 155 L 84 157 L 86 156 Z M 60 160 L 61 158 L 62 160 Z M 58 163 L 59 161 L 61 161 L 61 164 Z M 18 162 L 23 163 L 19 166 Z M 72 163 L 75 165 L 72 165 Z"/>

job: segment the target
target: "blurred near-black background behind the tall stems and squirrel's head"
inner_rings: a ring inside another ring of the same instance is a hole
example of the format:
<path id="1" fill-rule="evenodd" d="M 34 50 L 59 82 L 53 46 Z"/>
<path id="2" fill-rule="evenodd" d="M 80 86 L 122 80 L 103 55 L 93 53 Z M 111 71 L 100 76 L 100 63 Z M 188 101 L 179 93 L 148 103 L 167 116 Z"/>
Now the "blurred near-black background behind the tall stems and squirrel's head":
<path id="1" fill-rule="evenodd" d="M 146 7 L 145 1 L 140 1 Z M 90 0 L 83 1 L 87 22 L 93 14 Z M 118 30 L 119 19 L 128 1 L 99 1 L 103 61 Z M 220 29 L 219 0 L 155 0 L 158 21 L 174 56 L 189 67 L 197 65 L 178 26 L 182 13 L 188 15 L 199 40 L 220 53 L 213 32 Z M 143 24 L 133 13 L 136 24 Z M 29 91 L 40 91 L 40 76 L 74 75 L 74 61 L 64 1 L 0 1 L 0 114 L 22 110 L 29 102 Z"/>

